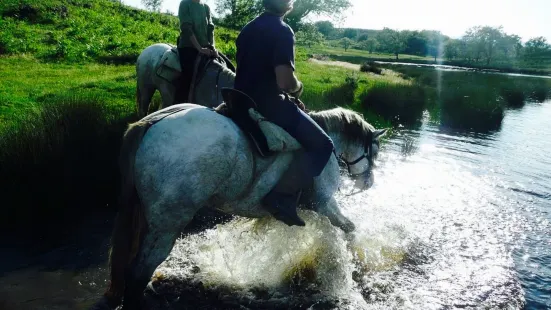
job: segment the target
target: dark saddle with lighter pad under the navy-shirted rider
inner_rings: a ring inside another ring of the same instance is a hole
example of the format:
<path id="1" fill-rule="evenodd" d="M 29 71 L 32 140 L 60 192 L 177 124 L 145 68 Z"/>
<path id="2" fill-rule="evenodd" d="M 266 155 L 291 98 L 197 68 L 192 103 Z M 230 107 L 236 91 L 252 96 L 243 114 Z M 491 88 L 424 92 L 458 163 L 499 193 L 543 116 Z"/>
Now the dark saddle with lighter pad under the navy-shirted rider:
<path id="1" fill-rule="evenodd" d="M 277 152 L 295 151 L 302 147 L 287 131 L 266 120 L 247 94 L 233 88 L 222 88 L 221 92 L 224 103 L 215 111 L 229 117 L 243 130 L 260 156 L 269 157 Z"/>

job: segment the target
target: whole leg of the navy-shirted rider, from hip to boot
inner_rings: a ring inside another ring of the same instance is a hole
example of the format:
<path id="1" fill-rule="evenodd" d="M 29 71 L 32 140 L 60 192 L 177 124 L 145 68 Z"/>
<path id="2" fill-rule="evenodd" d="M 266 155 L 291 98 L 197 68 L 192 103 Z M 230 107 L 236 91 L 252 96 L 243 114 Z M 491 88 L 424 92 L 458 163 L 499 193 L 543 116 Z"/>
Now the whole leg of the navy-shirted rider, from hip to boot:
<path id="1" fill-rule="evenodd" d="M 304 226 L 296 207 L 303 188 L 323 171 L 331 153 L 331 138 L 306 113 L 290 101 L 281 101 L 278 112 L 271 111 L 270 121 L 281 126 L 302 145 L 278 184 L 263 200 L 263 204 L 277 219 L 288 225 Z"/>

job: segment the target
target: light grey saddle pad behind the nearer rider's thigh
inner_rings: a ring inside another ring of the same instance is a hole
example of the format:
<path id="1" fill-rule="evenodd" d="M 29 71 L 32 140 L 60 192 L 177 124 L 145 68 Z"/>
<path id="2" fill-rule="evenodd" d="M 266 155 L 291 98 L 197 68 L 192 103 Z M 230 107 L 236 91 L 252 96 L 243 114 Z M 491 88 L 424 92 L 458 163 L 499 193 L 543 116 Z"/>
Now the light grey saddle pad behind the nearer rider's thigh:
<path id="1" fill-rule="evenodd" d="M 268 148 L 272 152 L 290 152 L 296 151 L 302 146 L 283 128 L 276 124 L 267 121 L 258 111 L 255 109 L 249 109 L 249 116 L 258 123 L 260 130 L 264 133 L 266 141 L 268 142 Z"/>

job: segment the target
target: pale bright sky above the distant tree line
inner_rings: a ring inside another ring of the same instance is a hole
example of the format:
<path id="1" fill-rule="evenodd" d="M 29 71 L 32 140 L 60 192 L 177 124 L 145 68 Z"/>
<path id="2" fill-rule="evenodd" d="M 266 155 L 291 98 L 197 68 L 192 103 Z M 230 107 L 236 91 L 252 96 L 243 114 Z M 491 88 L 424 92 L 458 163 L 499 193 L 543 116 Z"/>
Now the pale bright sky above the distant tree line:
<path id="1" fill-rule="evenodd" d="M 215 11 L 214 0 L 203 0 Z M 123 3 L 143 8 L 141 0 Z M 177 13 L 180 0 L 164 0 L 162 11 Z M 477 25 L 503 26 L 523 41 L 543 36 L 551 42 L 551 0 L 351 0 L 339 27 L 440 30 L 458 38 Z M 318 20 L 315 18 L 314 20 Z M 321 18 L 326 19 L 326 18 Z"/>

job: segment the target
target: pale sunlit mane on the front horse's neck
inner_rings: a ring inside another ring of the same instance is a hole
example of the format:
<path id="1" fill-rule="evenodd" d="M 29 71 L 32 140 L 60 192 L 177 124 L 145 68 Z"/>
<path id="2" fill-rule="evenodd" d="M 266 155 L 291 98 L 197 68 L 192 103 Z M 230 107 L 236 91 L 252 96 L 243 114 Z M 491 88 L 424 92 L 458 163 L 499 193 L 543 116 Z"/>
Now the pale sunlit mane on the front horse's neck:
<path id="1" fill-rule="evenodd" d="M 340 132 L 353 143 L 365 143 L 375 131 L 359 113 L 343 108 L 310 112 L 309 115 L 325 132 Z"/>

